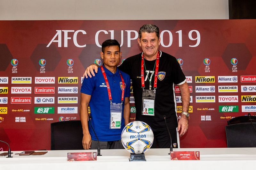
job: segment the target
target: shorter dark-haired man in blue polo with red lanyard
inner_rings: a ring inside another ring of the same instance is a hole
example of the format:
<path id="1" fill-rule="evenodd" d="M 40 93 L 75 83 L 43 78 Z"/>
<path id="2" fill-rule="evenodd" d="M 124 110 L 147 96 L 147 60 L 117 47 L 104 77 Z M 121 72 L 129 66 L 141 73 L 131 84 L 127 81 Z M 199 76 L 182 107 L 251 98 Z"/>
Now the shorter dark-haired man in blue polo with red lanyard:
<path id="1" fill-rule="evenodd" d="M 130 76 L 117 68 L 122 52 L 116 40 L 102 43 L 103 65 L 95 77 L 84 79 L 81 87 L 80 119 L 84 149 L 124 149 L 121 133 L 130 121 Z M 87 106 L 90 102 L 91 123 Z M 114 123 L 113 123 L 114 122 Z M 114 124 L 114 126 L 113 126 Z"/>

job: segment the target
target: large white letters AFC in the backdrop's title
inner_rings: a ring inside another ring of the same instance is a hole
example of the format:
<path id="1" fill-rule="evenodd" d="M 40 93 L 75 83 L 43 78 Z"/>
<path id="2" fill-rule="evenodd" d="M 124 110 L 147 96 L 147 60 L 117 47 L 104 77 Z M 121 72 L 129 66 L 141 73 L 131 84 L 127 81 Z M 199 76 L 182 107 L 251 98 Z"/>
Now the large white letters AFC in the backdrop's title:
<path id="1" fill-rule="evenodd" d="M 68 47 L 68 40 L 71 40 L 72 37 L 68 37 L 68 33 L 74 33 L 73 34 L 73 43 L 76 47 L 83 48 L 86 47 L 86 44 L 78 44 L 77 42 L 77 34 L 82 33 L 86 34 L 84 30 L 56 30 L 56 34 L 53 36 L 52 40 L 49 42 L 49 44 L 46 47 L 49 47 L 53 42 L 58 43 L 58 47 L 61 47 L 62 44 L 62 33 L 64 34 L 64 47 Z M 57 38 L 57 39 L 56 39 Z"/>

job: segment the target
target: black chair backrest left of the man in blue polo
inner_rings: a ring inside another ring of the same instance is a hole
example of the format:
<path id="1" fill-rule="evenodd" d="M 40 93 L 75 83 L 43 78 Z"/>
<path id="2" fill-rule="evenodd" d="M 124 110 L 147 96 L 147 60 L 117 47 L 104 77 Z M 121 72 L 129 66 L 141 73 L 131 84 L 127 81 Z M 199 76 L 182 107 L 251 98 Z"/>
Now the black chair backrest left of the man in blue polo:
<path id="1" fill-rule="evenodd" d="M 51 150 L 82 150 L 81 121 L 51 123 Z"/>

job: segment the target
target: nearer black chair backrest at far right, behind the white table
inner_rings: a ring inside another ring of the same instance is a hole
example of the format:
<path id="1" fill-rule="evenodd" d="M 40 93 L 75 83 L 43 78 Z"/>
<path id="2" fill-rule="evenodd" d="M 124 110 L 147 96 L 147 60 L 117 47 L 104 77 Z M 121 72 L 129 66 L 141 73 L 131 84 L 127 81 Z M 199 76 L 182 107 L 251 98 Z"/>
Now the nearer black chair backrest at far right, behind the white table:
<path id="1" fill-rule="evenodd" d="M 256 123 L 253 123 L 256 128 Z M 226 126 L 228 148 L 256 147 L 256 132 L 252 123 L 238 123 Z"/>

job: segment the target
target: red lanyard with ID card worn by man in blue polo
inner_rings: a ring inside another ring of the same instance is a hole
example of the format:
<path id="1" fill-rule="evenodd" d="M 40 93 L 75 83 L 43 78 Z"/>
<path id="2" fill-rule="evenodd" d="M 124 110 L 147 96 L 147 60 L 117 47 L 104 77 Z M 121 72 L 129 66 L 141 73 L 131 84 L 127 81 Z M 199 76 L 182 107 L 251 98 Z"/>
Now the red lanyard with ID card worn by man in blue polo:
<path id="1" fill-rule="evenodd" d="M 108 99 L 110 101 L 110 121 L 109 121 L 109 129 L 120 129 L 122 125 L 122 112 L 123 112 L 123 101 L 124 101 L 124 89 L 125 89 L 125 84 L 124 84 L 124 78 L 122 74 L 119 72 L 120 77 L 122 79 L 122 97 L 121 97 L 121 103 L 112 103 L 112 96 L 111 96 L 111 91 L 110 91 L 110 86 L 108 83 L 108 78 L 106 75 L 106 72 L 103 68 L 103 66 L 100 67 L 104 80 L 107 85 L 108 89 Z"/>

